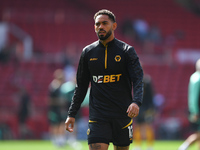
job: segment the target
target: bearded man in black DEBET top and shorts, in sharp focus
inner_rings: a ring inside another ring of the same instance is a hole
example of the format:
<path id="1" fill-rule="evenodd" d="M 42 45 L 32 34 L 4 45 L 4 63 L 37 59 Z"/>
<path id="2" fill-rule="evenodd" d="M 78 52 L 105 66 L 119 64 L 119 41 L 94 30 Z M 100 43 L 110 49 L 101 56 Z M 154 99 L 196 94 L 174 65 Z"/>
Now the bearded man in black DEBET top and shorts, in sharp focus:
<path id="1" fill-rule="evenodd" d="M 114 150 L 128 150 L 132 119 L 142 104 L 143 70 L 134 48 L 115 38 L 115 15 L 103 9 L 94 15 L 94 21 L 99 40 L 86 46 L 81 54 L 65 127 L 73 132 L 75 116 L 91 83 L 89 149 L 108 150 L 112 142 Z"/>

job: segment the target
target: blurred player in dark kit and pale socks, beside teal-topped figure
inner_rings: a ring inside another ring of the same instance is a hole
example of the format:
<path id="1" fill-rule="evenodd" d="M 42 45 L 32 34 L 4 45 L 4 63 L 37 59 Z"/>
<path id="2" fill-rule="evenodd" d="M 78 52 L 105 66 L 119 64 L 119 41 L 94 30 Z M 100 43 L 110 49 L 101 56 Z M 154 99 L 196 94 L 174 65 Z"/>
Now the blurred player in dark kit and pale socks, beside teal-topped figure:
<path id="1" fill-rule="evenodd" d="M 63 113 L 63 110 L 66 110 L 67 106 L 61 96 L 61 86 L 65 83 L 65 77 L 62 69 L 55 70 L 53 75 L 54 79 L 49 85 L 49 132 L 54 145 L 64 146 L 66 139 L 63 121 L 66 113 Z"/>

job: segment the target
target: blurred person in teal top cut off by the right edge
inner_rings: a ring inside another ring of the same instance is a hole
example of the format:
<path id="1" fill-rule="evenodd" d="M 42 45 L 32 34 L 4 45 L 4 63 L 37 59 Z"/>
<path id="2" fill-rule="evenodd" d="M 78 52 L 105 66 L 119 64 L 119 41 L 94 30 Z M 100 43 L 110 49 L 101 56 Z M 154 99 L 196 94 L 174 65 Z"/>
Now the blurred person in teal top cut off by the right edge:
<path id="1" fill-rule="evenodd" d="M 196 62 L 196 71 L 190 76 L 188 87 L 189 121 L 193 134 L 191 134 L 178 150 L 187 150 L 190 145 L 197 142 L 200 149 L 200 59 Z"/>

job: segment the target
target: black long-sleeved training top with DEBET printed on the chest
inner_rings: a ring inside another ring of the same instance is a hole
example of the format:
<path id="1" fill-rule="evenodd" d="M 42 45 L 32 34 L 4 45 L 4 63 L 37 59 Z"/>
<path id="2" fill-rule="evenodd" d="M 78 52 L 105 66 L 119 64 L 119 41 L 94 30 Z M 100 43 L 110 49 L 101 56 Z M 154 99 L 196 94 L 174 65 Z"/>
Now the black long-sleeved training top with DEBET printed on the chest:
<path id="1" fill-rule="evenodd" d="M 126 118 L 131 103 L 142 104 L 143 70 L 139 58 L 132 46 L 118 39 L 105 46 L 100 41 L 86 46 L 76 78 L 77 86 L 68 112 L 70 117 L 75 117 L 79 110 L 89 82 L 90 119 Z"/>

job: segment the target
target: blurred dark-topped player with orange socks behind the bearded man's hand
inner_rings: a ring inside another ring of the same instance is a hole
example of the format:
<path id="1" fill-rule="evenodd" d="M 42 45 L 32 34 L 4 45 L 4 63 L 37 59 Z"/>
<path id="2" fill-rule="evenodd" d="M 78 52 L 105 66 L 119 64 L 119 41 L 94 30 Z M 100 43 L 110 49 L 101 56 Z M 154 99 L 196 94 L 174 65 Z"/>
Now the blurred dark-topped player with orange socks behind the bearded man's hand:
<path id="1" fill-rule="evenodd" d="M 154 129 L 153 120 L 155 114 L 155 106 L 153 102 L 154 89 L 151 76 L 144 74 L 144 95 L 143 105 L 140 107 L 140 113 L 135 118 L 135 126 L 133 127 L 133 138 L 135 141 L 135 148 L 133 150 L 141 150 L 142 140 L 147 141 L 147 150 L 153 150 Z"/>

